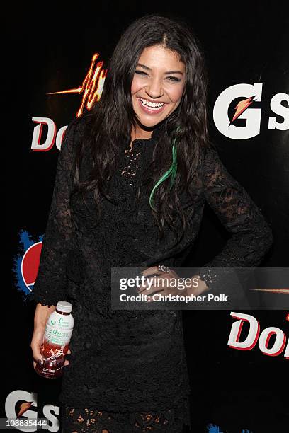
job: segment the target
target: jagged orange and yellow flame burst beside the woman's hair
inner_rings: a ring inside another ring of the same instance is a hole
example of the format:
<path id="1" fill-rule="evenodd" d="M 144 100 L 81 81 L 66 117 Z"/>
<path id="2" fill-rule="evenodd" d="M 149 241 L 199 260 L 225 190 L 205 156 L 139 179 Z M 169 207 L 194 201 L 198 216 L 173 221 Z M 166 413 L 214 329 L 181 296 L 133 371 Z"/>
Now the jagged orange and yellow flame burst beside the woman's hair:
<path id="1" fill-rule="evenodd" d="M 52 92 L 47 93 L 47 95 L 60 95 L 64 93 L 83 93 L 82 101 L 80 108 L 77 112 L 77 117 L 80 117 L 83 110 L 84 105 L 86 105 L 86 108 L 88 110 L 91 110 L 94 103 L 101 98 L 101 93 L 103 91 L 103 85 L 104 81 L 106 79 L 106 74 L 108 72 L 108 69 L 101 69 L 103 67 L 103 62 L 96 63 L 96 59 L 98 59 L 98 52 L 94 54 L 91 60 L 91 66 L 89 68 L 88 73 L 86 74 L 86 77 L 78 88 L 72 88 L 67 91 L 60 91 L 60 92 Z"/>

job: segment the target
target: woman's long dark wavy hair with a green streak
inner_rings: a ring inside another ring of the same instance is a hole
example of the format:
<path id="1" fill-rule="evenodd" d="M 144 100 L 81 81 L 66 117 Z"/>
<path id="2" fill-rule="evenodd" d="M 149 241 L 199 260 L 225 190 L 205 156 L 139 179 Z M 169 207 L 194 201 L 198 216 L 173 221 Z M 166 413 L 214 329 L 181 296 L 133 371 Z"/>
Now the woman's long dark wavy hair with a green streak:
<path id="1" fill-rule="evenodd" d="M 154 189 L 154 197 L 151 193 L 149 203 L 159 227 L 159 235 L 161 238 L 164 236 L 167 224 L 178 242 L 186 229 L 179 195 L 183 190 L 190 194 L 188 187 L 196 175 L 201 148 L 209 144 L 204 56 L 196 35 L 179 19 L 144 16 L 130 24 L 120 37 L 108 62 L 108 75 L 101 99 L 85 115 L 86 131 L 77 151 L 74 192 L 84 197 L 85 192 L 93 190 L 96 204 L 104 199 L 113 202 L 108 185 L 116 168 L 120 141 L 130 140 L 132 126 L 137 125 L 132 108 L 132 79 L 142 51 L 153 45 L 162 45 L 177 52 L 186 67 L 186 86 L 181 103 L 158 126 L 157 146 L 154 147 L 151 170 L 147 170 L 151 173 L 151 190 Z M 80 180 L 79 168 L 84 149 L 87 151 L 88 146 L 94 167 L 86 180 Z M 144 179 L 143 184 L 148 180 Z M 137 200 L 141 193 L 139 186 Z M 100 218 L 99 206 L 97 208 Z M 177 223 L 180 220 L 181 231 Z"/>

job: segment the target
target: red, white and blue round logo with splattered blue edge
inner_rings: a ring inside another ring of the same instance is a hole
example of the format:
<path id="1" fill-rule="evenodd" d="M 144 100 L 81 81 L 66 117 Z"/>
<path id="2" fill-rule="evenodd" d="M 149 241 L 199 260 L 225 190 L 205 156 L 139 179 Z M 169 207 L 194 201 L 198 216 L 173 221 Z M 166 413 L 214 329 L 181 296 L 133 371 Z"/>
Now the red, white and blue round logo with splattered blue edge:
<path id="1" fill-rule="evenodd" d="M 32 241 L 28 231 L 19 233 L 19 246 L 21 253 L 14 258 L 13 274 L 16 277 L 16 287 L 26 297 L 33 291 L 35 279 L 38 274 L 40 254 L 42 250 L 42 236 L 38 242 Z"/>

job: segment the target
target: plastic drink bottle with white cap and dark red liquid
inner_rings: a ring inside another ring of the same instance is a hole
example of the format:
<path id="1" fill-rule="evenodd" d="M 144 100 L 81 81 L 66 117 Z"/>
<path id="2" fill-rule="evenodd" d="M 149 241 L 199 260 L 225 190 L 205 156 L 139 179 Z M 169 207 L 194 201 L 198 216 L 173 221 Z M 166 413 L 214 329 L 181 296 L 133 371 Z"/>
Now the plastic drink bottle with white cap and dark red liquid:
<path id="1" fill-rule="evenodd" d="M 43 364 L 36 364 L 35 371 L 47 379 L 57 379 L 63 374 L 63 366 L 67 354 L 74 318 L 72 304 L 66 301 L 57 302 L 56 310 L 50 314 L 46 326 L 44 340 L 40 352 Z"/>

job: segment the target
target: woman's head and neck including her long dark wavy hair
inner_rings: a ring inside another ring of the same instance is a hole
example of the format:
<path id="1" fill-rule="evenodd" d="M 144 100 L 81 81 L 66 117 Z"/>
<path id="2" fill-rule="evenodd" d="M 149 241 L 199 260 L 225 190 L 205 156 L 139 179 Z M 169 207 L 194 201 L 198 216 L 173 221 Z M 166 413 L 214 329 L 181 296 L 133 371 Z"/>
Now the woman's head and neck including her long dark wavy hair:
<path id="1" fill-rule="evenodd" d="M 111 200 L 110 180 L 123 152 L 120 137 L 129 142 L 125 153 L 130 152 L 130 168 L 125 171 L 134 176 L 131 168 L 140 158 L 135 155 L 139 140 L 147 140 L 149 148 L 149 140 L 158 136 L 142 183 L 152 183 L 154 188 L 149 203 L 160 236 L 169 226 L 177 243 L 186 228 L 179 192 L 191 194 L 201 152 L 209 146 L 207 71 L 199 42 L 181 21 L 145 16 L 125 30 L 108 66 L 101 100 L 84 116 L 87 125 L 77 153 L 76 173 L 88 150 L 94 169 L 82 182 L 76 176 L 77 194 L 94 189 L 96 204 L 102 197 Z M 142 192 L 140 185 L 135 187 L 138 200 Z M 98 212 L 100 217 L 101 206 Z"/>

